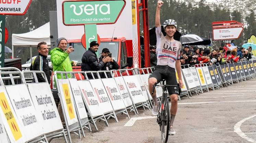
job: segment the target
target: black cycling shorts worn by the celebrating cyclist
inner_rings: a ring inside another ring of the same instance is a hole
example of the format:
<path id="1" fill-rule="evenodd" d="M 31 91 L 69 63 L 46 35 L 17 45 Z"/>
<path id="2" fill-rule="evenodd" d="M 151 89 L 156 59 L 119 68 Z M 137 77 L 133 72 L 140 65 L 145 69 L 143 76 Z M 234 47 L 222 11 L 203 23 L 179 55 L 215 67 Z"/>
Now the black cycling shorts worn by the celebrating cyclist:
<path id="1" fill-rule="evenodd" d="M 148 78 L 152 77 L 157 79 L 157 83 L 159 83 L 162 79 L 165 79 L 167 85 L 177 85 L 175 69 L 169 67 L 168 65 L 157 65 L 154 72 L 151 73 Z M 179 95 L 178 86 L 169 86 L 167 90 L 170 95 Z"/>

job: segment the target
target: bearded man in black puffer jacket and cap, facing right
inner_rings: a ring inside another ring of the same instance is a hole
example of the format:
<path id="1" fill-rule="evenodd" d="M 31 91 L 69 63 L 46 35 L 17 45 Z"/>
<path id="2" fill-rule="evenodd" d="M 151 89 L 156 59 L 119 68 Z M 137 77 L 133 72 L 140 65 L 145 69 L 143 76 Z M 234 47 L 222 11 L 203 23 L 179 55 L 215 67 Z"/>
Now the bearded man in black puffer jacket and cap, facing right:
<path id="1" fill-rule="evenodd" d="M 99 49 L 99 43 L 92 41 L 90 43 L 90 48 L 83 54 L 81 68 L 82 71 L 98 71 L 112 60 L 110 57 L 104 57 L 102 61 L 99 61 L 95 52 Z M 91 74 L 87 74 L 89 79 L 93 79 Z M 95 76 L 94 76 L 95 77 Z"/>

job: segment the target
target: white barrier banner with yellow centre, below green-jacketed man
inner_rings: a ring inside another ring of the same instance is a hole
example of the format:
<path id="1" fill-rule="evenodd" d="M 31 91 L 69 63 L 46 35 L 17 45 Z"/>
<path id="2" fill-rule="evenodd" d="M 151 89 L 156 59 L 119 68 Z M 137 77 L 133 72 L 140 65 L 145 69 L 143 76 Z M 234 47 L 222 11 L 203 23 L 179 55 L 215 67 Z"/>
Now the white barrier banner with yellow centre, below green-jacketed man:
<path id="1" fill-rule="evenodd" d="M 77 116 L 75 111 L 75 103 L 74 103 L 74 97 L 70 88 L 69 79 L 58 79 L 59 83 L 59 92 L 62 100 L 65 110 L 65 116 L 68 121 L 68 125 L 72 125 L 74 123 L 77 123 Z"/>

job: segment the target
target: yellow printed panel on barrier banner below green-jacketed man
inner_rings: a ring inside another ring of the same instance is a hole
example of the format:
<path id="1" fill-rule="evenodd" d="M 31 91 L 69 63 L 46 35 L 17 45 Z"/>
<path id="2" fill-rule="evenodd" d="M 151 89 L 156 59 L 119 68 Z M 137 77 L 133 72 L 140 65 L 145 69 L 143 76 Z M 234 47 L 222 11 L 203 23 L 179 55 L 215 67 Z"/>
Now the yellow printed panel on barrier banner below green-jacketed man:
<path id="1" fill-rule="evenodd" d="M 65 83 L 65 84 L 62 84 L 62 88 L 63 88 L 63 92 L 64 92 L 64 97 L 66 100 L 66 106 L 67 106 L 67 109 L 69 112 L 69 117 L 71 120 L 71 119 L 75 118 L 75 113 L 74 113 L 74 109 L 72 106 L 72 101 L 71 101 L 70 92 L 69 92 L 69 86 L 68 86 L 68 84 Z"/>

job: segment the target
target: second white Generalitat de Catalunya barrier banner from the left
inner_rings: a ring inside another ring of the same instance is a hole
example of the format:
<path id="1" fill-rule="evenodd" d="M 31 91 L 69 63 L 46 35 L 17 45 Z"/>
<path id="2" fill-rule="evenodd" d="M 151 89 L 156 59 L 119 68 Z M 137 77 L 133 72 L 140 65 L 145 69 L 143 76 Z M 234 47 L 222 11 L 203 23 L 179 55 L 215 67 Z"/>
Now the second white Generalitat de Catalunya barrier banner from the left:
<path id="1" fill-rule="evenodd" d="M 96 96 L 99 99 L 101 110 L 104 114 L 113 112 L 113 107 L 111 105 L 111 102 L 108 98 L 108 94 L 104 88 L 103 83 L 100 79 L 91 79 L 89 80 Z"/>

